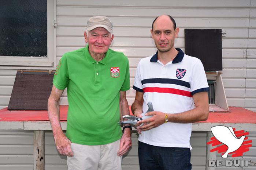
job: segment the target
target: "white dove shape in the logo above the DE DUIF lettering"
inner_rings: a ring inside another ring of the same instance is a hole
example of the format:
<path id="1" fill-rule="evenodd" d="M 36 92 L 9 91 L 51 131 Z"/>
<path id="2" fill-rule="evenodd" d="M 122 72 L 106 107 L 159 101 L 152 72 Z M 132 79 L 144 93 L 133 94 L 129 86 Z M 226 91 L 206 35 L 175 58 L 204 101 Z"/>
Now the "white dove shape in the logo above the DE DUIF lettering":
<path id="1" fill-rule="evenodd" d="M 244 142 L 245 136 L 241 136 L 240 139 L 235 136 L 234 130 L 232 127 L 226 126 L 214 126 L 211 128 L 212 134 L 214 137 L 225 144 L 228 149 L 227 151 L 221 156 L 222 158 L 227 158 L 227 155 L 231 152 L 234 152 L 240 148 L 242 143 Z"/>

